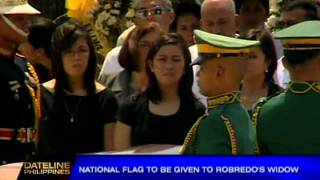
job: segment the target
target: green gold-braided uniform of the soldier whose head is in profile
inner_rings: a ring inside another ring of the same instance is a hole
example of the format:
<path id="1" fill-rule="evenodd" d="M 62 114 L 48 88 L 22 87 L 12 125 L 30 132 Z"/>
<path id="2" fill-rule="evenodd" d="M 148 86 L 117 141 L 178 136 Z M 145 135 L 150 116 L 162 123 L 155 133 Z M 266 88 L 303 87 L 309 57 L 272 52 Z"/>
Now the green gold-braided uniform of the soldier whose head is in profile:
<path id="1" fill-rule="evenodd" d="M 255 131 L 240 93 L 208 98 L 207 113 L 193 125 L 183 154 L 254 154 Z"/>

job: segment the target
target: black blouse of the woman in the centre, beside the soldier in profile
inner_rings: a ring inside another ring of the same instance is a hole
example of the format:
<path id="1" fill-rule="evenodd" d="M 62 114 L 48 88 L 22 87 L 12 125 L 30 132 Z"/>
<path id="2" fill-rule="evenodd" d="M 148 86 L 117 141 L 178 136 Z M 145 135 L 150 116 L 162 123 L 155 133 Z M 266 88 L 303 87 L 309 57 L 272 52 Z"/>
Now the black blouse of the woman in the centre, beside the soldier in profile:
<path id="1" fill-rule="evenodd" d="M 185 136 L 205 112 L 198 101 L 190 104 L 181 100 L 179 110 L 169 116 L 150 112 L 148 100 L 130 98 L 120 106 L 120 121 L 132 128 L 131 145 L 183 144 Z"/>

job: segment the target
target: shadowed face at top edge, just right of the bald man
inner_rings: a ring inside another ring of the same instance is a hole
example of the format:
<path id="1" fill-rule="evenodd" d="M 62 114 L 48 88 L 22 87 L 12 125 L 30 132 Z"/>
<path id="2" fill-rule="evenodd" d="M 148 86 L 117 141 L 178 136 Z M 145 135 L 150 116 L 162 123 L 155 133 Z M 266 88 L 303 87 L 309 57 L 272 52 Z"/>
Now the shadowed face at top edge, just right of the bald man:
<path id="1" fill-rule="evenodd" d="M 240 30 L 258 28 L 265 22 L 266 10 L 262 3 L 257 0 L 247 0 L 240 8 Z"/>

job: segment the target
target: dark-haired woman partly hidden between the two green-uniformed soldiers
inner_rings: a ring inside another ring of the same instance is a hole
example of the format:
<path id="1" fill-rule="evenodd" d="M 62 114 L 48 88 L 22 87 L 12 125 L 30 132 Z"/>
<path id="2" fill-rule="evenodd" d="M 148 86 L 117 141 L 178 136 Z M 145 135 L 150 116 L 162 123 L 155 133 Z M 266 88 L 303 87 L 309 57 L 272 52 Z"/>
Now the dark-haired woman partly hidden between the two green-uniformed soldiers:
<path id="1" fill-rule="evenodd" d="M 260 41 L 260 46 L 251 53 L 241 88 L 241 99 L 250 111 L 261 97 L 273 96 L 281 91 L 281 88 L 273 80 L 277 69 L 277 56 L 270 32 L 264 28 L 252 29 L 244 38 Z"/>

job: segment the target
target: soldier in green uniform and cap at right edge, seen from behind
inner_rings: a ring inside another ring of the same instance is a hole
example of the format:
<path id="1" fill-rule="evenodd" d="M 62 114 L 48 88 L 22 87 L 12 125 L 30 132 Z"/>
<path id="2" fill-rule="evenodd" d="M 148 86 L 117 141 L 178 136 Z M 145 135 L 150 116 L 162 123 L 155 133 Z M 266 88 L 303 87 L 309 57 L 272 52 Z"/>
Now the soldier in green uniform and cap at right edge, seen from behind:
<path id="1" fill-rule="evenodd" d="M 292 81 L 255 108 L 261 154 L 320 154 L 319 29 L 320 21 L 305 21 L 275 34 L 283 43 L 283 64 Z"/>

